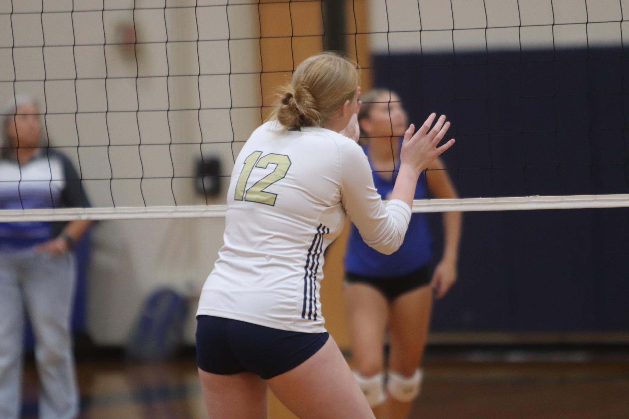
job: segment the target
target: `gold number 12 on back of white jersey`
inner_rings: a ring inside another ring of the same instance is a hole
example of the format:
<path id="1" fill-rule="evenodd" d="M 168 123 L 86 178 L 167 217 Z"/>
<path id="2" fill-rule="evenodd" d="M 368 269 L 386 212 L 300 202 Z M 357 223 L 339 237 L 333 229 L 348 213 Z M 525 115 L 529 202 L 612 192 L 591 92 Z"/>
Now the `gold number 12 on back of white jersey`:
<path id="1" fill-rule="evenodd" d="M 277 193 L 266 192 L 265 189 L 286 176 L 288 168 L 291 167 L 291 159 L 286 155 L 275 153 L 269 153 L 260 158 L 261 155 L 262 151 L 253 151 L 253 153 L 245 159 L 245 167 L 240 173 L 240 177 L 238 177 L 238 182 L 236 183 L 235 199 L 237 201 L 245 200 L 273 206 L 275 205 Z M 252 187 L 245 190 L 253 167 L 265 169 L 269 164 L 276 165 L 275 170 L 258 182 L 253 183 Z"/>

